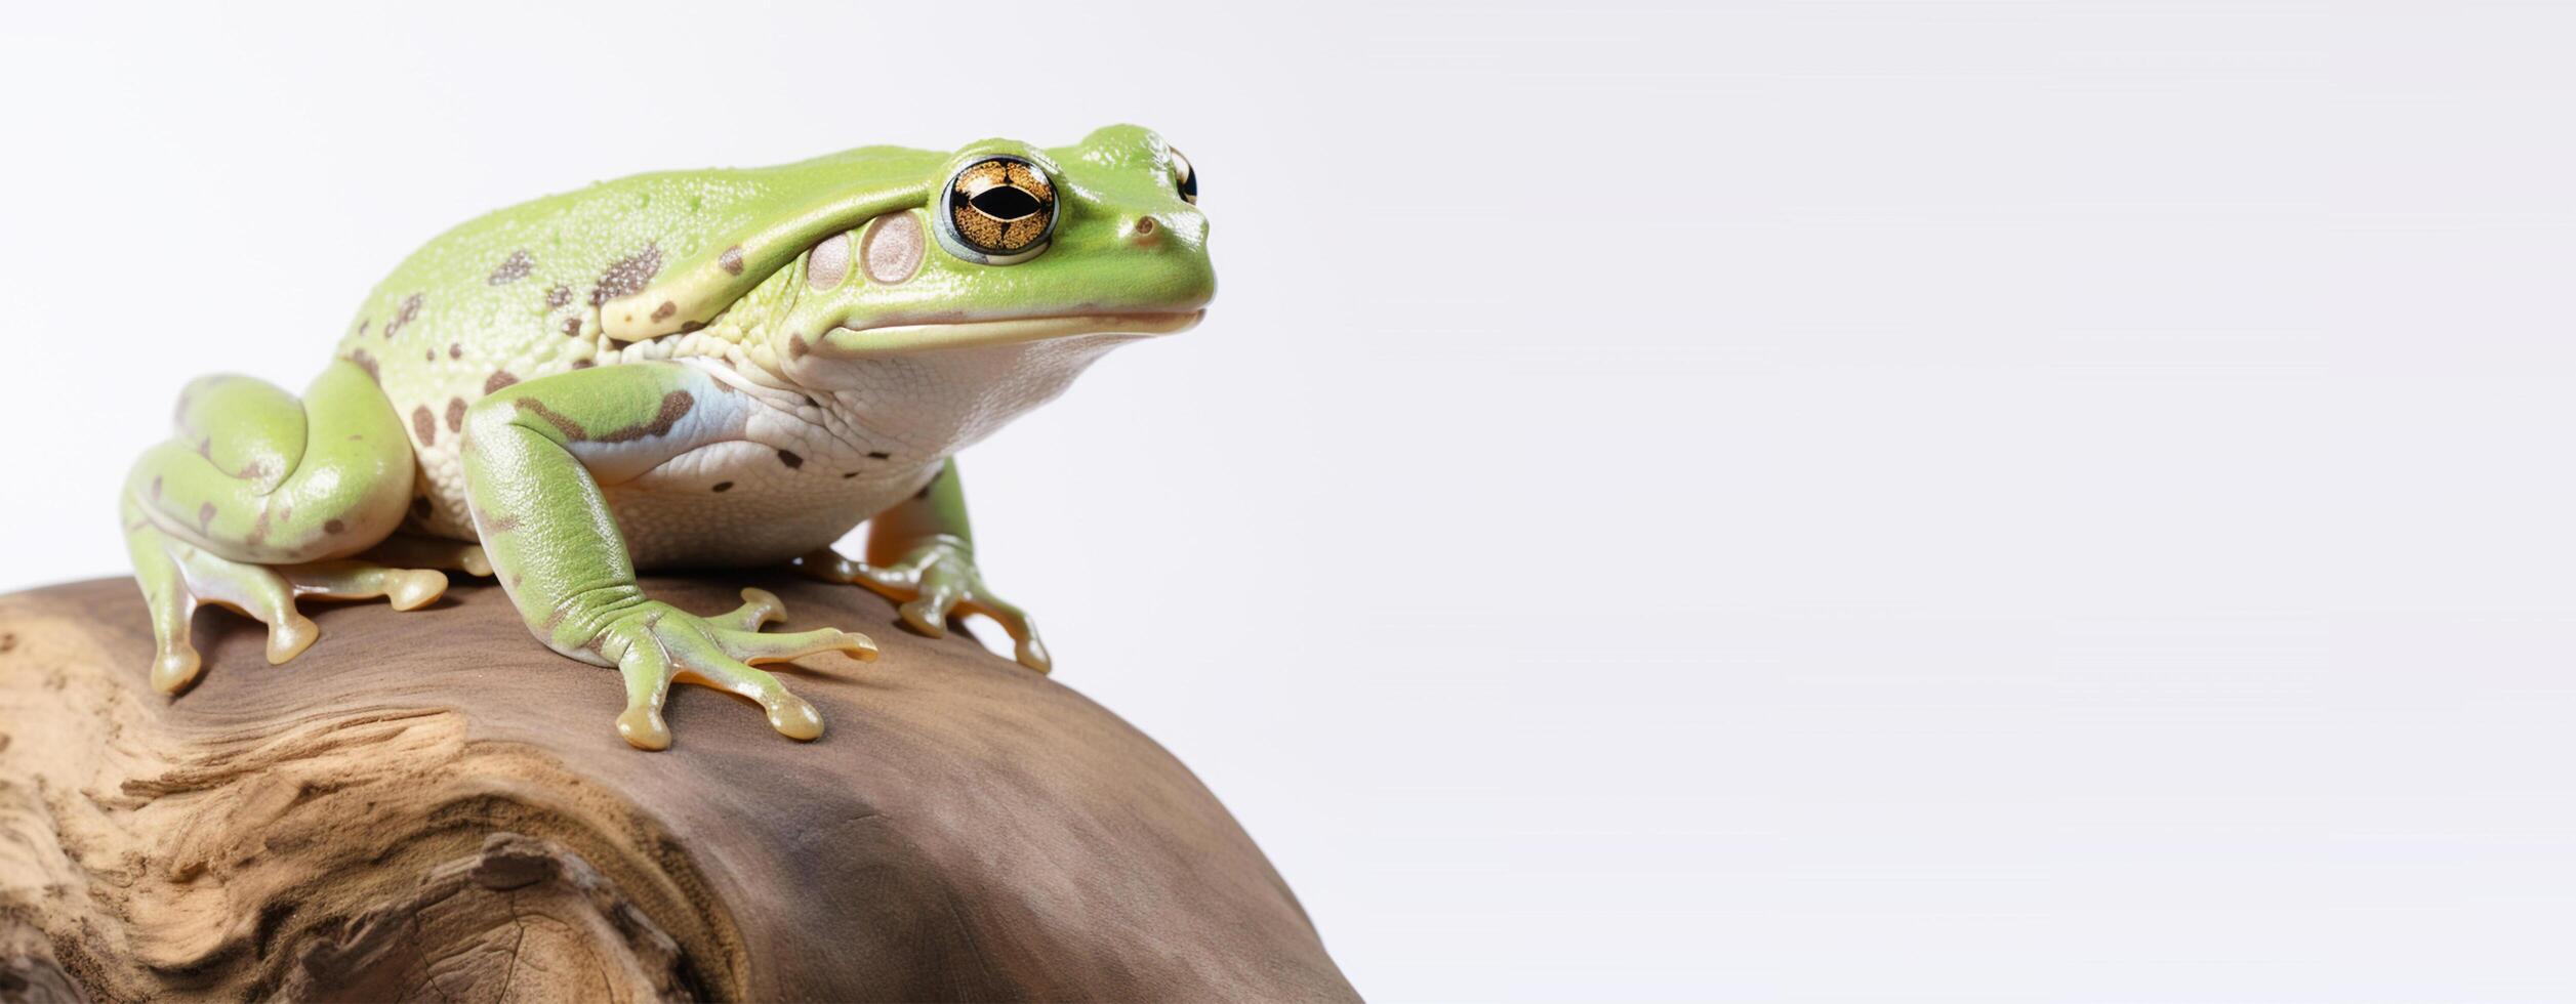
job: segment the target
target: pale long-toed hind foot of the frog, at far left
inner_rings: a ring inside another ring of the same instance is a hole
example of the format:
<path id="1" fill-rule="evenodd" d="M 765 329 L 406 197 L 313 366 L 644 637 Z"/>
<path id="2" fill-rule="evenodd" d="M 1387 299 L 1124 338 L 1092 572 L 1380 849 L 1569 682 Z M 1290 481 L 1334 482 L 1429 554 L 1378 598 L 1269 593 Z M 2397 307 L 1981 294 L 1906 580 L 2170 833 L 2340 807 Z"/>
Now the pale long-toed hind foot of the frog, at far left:
<path id="1" fill-rule="evenodd" d="M 196 680 L 204 659 L 188 644 L 188 618 L 198 605 L 222 605 L 268 626 L 268 664 L 304 654 L 322 628 L 296 610 L 299 597 L 374 600 L 394 610 L 417 610 L 448 590 L 448 577 L 430 569 L 389 569 L 371 561 L 250 564 L 232 561 L 155 528 L 129 502 L 126 551 L 134 579 L 152 608 L 152 687 L 180 693 Z"/>

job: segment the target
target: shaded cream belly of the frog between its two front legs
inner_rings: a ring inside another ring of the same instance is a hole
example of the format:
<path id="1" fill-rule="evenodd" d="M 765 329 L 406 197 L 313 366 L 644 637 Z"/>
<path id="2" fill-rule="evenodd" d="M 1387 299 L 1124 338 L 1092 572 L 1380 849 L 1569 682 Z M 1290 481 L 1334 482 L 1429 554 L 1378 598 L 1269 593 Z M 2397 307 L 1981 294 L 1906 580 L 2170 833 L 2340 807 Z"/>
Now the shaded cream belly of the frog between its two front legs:
<path id="1" fill-rule="evenodd" d="M 603 489 L 636 569 L 781 564 L 920 492 L 938 466 L 840 476 L 716 443 Z"/>

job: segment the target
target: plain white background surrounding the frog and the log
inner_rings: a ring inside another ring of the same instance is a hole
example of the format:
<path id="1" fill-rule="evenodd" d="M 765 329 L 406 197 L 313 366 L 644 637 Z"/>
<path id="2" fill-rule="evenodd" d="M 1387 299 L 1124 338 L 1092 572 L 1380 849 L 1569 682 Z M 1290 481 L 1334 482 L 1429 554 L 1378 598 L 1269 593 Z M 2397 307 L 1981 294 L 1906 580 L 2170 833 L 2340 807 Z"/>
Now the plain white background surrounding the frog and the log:
<path id="1" fill-rule="evenodd" d="M 2566 10 L 18 5 L 0 587 L 484 209 L 1139 121 L 987 569 L 1360 991 L 2571 999 Z"/>

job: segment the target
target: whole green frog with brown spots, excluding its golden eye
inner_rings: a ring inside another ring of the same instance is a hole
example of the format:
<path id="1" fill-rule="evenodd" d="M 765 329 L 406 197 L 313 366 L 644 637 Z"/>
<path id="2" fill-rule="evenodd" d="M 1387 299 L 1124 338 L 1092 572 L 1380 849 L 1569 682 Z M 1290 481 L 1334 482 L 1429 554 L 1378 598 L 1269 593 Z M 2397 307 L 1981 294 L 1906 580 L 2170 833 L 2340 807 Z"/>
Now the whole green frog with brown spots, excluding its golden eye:
<path id="1" fill-rule="evenodd" d="M 994 154 L 1054 193 L 1054 237 L 1010 265 L 935 239 L 951 178 Z M 121 510 L 155 685 L 196 677 L 198 602 L 265 620 L 286 662 L 317 633 L 299 595 L 417 608 L 446 587 L 433 569 L 461 569 L 497 574 L 546 646 L 621 669 L 636 747 L 670 744 L 675 680 L 811 739 L 811 705 L 752 667 L 873 644 L 760 633 L 781 610 L 757 590 L 701 618 L 634 584 L 639 564 L 788 559 L 927 633 L 987 613 L 1043 672 L 1028 615 L 974 566 L 953 453 L 1103 350 L 1200 317 L 1216 281 L 1188 170 L 1110 126 L 1059 149 L 639 175 L 456 227 L 368 296 L 301 402 L 191 384 L 178 435 L 137 461 Z M 868 559 L 832 553 L 860 520 Z"/>

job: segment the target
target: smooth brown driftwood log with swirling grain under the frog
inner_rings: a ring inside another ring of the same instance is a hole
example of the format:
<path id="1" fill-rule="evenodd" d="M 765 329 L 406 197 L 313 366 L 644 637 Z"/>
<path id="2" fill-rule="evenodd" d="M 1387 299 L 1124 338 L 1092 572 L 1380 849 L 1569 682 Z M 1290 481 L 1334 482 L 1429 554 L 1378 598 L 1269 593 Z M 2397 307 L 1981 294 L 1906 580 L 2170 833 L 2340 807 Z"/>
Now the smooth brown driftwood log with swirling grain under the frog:
<path id="1" fill-rule="evenodd" d="M 0 1001 L 1355 999 L 1224 806 L 1074 690 L 855 587 L 644 584 L 760 584 L 773 631 L 884 659 L 778 667 L 819 741 L 675 687 L 647 754 L 492 587 L 309 605 L 286 667 L 201 613 L 175 700 L 131 582 L 0 597 Z"/>

